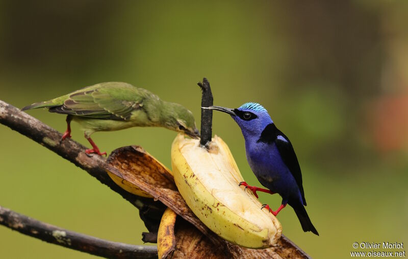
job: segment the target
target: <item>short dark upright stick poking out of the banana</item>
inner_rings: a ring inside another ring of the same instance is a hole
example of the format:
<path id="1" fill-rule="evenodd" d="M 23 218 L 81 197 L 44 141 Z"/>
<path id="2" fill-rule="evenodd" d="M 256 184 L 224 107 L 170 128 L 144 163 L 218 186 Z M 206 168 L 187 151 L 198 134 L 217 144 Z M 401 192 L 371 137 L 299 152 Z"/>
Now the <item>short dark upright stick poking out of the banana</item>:
<path id="1" fill-rule="evenodd" d="M 202 90 L 201 107 L 209 107 L 213 105 L 213 93 L 211 92 L 210 83 L 207 78 L 202 79 L 202 83 L 197 83 Z M 213 110 L 201 109 L 201 146 L 206 146 L 207 142 L 211 141 L 213 127 Z M 207 147 L 207 146 L 206 146 Z"/>

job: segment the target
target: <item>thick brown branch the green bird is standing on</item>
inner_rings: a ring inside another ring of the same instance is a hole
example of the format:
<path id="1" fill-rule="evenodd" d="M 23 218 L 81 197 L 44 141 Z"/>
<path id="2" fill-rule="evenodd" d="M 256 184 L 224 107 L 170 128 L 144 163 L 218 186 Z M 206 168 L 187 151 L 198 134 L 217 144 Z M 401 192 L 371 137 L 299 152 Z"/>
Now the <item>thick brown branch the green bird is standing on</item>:
<path id="1" fill-rule="evenodd" d="M 54 151 L 87 171 L 101 183 L 109 186 L 110 189 L 139 209 L 140 217 L 149 231 L 157 232 L 166 206 L 160 201 L 124 191 L 106 173 L 106 168 L 109 166 L 104 157 L 95 154 L 88 156 L 85 153 L 86 147 L 70 138 L 65 139 L 60 144 L 61 133 L 2 100 L 0 100 L 0 123 Z M 148 213 L 145 213 L 146 211 Z"/>

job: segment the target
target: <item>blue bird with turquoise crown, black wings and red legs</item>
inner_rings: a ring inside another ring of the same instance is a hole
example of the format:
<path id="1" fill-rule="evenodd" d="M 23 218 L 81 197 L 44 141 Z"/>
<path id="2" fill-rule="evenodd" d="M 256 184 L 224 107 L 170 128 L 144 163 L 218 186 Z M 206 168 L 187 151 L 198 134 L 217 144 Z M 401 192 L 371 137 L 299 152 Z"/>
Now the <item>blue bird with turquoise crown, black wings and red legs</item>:
<path id="1" fill-rule="evenodd" d="M 237 109 L 221 106 L 210 106 L 207 109 L 228 113 L 235 120 L 245 138 L 249 166 L 260 183 L 269 190 L 249 186 L 246 182 L 240 185 L 251 190 L 257 198 L 257 191 L 281 195 L 282 204 L 276 211 L 272 211 L 266 204 L 261 209 L 266 208 L 276 216 L 289 204 L 295 210 L 303 231 L 312 231 L 319 236 L 304 208 L 306 200 L 302 174 L 295 151 L 289 138 L 276 128 L 268 111 L 258 103 L 245 103 Z"/>

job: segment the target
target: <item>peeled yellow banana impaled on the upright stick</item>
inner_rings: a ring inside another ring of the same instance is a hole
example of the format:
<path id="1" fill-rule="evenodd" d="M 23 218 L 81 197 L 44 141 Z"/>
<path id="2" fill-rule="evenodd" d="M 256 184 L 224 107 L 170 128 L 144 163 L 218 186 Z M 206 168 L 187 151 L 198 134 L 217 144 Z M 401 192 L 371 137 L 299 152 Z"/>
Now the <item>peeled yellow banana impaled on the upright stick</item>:
<path id="1" fill-rule="evenodd" d="M 187 205 L 207 227 L 231 243 L 259 249 L 275 245 L 282 234 L 281 223 L 239 186 L 243 178 L 223 140 L 215 136 L 209 146 L 202 148 L 199 140 L 182 134 L 173 141 L 174 181 Z"/>

